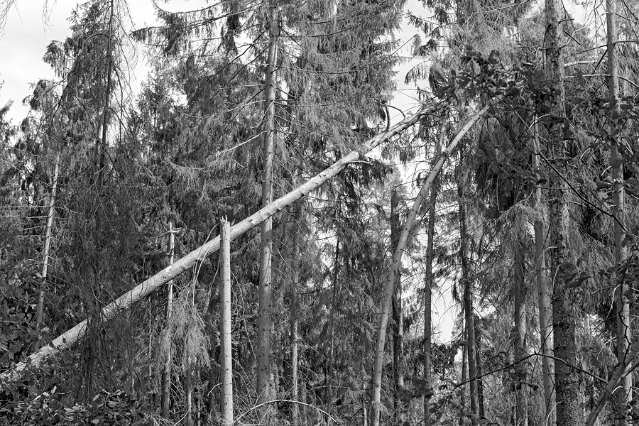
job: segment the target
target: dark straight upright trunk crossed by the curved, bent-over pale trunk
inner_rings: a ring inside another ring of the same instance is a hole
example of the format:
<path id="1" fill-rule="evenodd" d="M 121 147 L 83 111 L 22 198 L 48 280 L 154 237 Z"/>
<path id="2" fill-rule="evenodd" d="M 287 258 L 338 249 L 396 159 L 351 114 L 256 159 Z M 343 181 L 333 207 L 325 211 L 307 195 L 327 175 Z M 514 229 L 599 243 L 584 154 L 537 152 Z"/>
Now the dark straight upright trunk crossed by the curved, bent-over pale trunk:
<path id="1" fill-rule="evenodd" d="M 391 192 L 391 249 L 397 250 L 400 234 L 397 188 Z M 402 310 L 402 273 L 395 276 L 395 295 L 393 295 L 393 371 L 395 373 L 395 423 L 401 425 L 402 400 L 404 390 L 404 315 Z"/>

